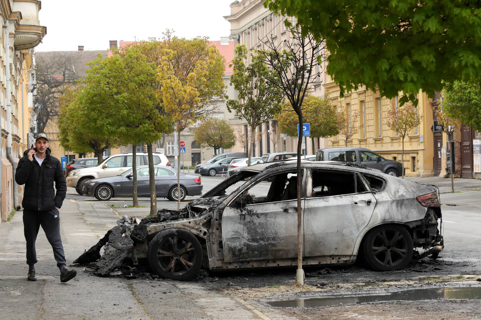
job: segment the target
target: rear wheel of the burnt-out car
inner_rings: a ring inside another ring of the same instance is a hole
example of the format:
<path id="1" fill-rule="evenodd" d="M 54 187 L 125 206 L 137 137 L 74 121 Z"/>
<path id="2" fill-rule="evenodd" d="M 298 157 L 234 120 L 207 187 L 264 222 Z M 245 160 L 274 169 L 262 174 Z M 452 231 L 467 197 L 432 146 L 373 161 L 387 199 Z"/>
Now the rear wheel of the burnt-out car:
<path id="1" fill-rule="evenodd" d="M 403 269 L 413 256 L 413 239 L 402 225 L 380 225 L 363 242 L 367 265 L 376 271 Z"/>

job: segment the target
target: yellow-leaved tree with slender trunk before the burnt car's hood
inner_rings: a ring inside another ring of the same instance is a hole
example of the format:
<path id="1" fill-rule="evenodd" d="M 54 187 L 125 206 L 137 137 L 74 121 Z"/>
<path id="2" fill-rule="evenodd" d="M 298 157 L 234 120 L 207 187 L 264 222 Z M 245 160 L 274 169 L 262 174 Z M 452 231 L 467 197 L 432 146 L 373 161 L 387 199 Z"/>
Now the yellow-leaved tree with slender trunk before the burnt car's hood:
<path id="1" fill-rule="evenodd" d="M 169 37 L 164 43 L 167 50 L 157 68 L 160 84 L 157 96 L 175 124 L 179 150 L 180 133 L 211 114 L 218 98 L 224 96 L 225 59 L 207 39 Z M 180 157 L 177 158 L 179 167 Z M 180 191 L 179 175 L 177 170 L 177 190 Z M 180 197 L 177 198 L 179 209 Z"/>

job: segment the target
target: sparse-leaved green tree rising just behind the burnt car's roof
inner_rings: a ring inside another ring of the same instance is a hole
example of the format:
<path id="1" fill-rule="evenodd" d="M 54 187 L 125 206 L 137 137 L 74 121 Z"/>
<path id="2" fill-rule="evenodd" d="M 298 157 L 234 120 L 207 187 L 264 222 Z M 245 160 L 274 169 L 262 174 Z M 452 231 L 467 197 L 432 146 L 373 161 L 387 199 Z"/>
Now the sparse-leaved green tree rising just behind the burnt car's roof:
<path id="1" fill-rule="evenodd" d="M 230 85 L 237 90 L 238 100 L 228 99 L 227 108 L 229 112 L 234 110 L 240 119 L 245 119 L 251 129 L 247 160 L 247 165 L 250 166 L 257 137 L 255 129 L 280 111 L 282 90 L 268 84 L 267 79 L 273 78 L 275 74 L 267 68 L 261 56 L 251 54 L 251 63 L 247 65 L 245 44 L 238 44 L 234 54 Z"/>

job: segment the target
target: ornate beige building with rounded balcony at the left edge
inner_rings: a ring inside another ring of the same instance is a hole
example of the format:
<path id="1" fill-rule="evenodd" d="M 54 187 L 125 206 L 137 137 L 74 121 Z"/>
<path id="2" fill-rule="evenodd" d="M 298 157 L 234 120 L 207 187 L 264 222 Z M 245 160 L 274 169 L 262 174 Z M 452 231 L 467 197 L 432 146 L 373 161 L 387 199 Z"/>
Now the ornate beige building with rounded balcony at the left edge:
<path id="1" fill-rule="evenodd" d="M 0 221 L 21 204 L 23 186 L 14 171 L 31 142 L 35 125 L 35 50 L 47 33 L 37 0 L 0 0 Z"/>

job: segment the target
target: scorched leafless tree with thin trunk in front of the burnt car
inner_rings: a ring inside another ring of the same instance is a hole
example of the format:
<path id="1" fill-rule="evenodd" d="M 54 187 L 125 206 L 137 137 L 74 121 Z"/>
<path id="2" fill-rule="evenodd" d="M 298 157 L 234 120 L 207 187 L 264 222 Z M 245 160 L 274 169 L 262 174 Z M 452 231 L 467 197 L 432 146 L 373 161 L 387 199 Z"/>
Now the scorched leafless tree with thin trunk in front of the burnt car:
<path id="1" fill-rule="evenodd" d="M 267 77 L 270 87 L 280 89 L 299 118 L 299 126 L 303 127 L 303 102 L 307 93 L 313 90 L 314 83 L 320 83 L 319 64 L 323 62 L 325 52 L 324 40 L 316 41 L 311 34 L 300 29 L 292 29 L 289 40 L 276 44 L 270 36 L 258 54 L 268 68 L 274 71 L 273 77 Z M 297 142 L 297 186 L 301 186 L 301 144 L 302 134 Z M 297 272 L 296 284 L 304 284 L 302 269 L 302 208 L 301 188 L 297 188 Z"/>

